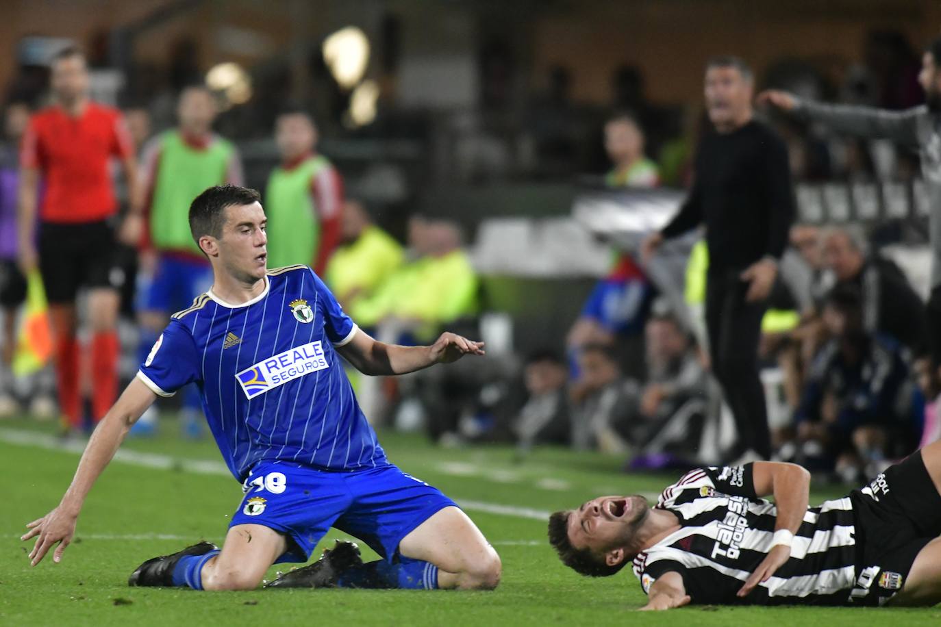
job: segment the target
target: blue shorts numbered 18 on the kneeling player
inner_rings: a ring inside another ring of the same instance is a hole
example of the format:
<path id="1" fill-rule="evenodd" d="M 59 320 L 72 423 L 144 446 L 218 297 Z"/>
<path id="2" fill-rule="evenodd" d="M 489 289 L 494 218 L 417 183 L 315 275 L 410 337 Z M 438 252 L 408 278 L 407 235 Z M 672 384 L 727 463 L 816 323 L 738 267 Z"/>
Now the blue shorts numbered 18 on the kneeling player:
<path id="1" fill-rule="evenodd" d="M 327 472 L 292 462 L 259 462 L 243 484 L 233 525 L 264 525 L 290 541 L 277 562 L 306 562 L 332 526 L 387 561 L 399 542 L 440 509 L 457 507 L 438 488 L 390 464 Z"/>

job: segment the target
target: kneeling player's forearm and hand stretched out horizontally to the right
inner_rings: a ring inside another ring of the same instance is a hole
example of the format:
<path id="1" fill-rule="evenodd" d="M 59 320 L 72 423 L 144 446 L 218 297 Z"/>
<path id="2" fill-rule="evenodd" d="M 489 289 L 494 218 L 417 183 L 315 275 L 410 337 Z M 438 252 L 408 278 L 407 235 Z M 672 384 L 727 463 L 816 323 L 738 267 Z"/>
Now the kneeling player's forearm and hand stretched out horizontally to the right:
<path id="1" fill-rule="evenodd" d="M 371 376 L 406 374 L 435 364 L 450 364 L 466 354 L 484 354 L 484 342 L 442 333 L 431 346 L 398 346 L 376 341 L 361 329 L 337 349 L 353 368 Z"/>

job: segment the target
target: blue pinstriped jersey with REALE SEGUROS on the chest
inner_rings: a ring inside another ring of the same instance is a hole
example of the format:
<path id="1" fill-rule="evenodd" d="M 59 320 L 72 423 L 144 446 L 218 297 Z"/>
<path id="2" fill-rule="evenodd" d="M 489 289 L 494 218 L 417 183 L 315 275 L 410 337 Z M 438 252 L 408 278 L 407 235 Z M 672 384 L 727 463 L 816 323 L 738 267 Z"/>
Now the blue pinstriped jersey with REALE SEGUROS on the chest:
<path id="1" fill-rule="evenodd" d="M 210 290 L 174 314 L 137 377 L 160 396 L 199 385 L 240 481 L 262 461 L 326 470 L 387 463 L 335 350 L 357 325 L 307 266 L 269 270 L 265 281 L 242 305 Z"/>

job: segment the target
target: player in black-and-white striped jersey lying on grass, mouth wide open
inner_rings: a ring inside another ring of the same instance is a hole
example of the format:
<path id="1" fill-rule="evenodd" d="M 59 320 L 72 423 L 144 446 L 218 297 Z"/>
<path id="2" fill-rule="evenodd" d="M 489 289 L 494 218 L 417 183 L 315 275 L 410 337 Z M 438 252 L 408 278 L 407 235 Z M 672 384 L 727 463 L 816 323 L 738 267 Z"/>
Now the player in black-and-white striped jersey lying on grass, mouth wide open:
<path id="1" fill-rule="evenodd" d="M 601 496 L 557 511 L 549 538 L 582 574 L 632 561 L 648 595 L 641 609 L 941 602 L 941 443 L 819 507 L 807 507 L 809 484 L 790 463 L 698 468 L 653 508 L 643 496 Z"/>

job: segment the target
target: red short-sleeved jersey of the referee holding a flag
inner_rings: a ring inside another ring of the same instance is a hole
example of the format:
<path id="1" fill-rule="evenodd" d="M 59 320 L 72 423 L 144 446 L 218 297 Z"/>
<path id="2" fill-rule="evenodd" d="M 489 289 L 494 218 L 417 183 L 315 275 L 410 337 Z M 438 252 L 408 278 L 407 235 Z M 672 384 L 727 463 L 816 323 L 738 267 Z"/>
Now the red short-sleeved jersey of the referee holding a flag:
<path id="1" fill-rule="evenodd" d="M 108 162 L 134 154 L 117 109 L 88 102 L 78 118 L 51 106 L 29 120 L 20 165 L 40 170 L 45 194 L 40 219 L 76 223 L 104 220 L 118 208 Z"/>

